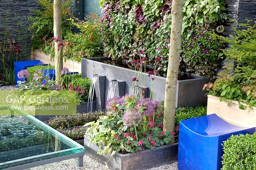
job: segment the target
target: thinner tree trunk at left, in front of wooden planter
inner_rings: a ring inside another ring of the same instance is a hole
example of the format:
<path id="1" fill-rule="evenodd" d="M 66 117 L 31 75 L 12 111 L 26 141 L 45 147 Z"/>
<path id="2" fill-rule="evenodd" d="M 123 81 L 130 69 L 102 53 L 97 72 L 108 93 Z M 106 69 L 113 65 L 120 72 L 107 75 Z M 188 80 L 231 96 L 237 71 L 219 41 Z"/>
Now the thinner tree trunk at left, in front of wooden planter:
<path id="1" fill-rule="evenodd" d="M 61 31 L 61 0 L 54 0 L 53 2 L 53 32 L 55 40 L 55 74 L 56 83 L 60 81 L 60 70 L 63 68 L 63 58 L 62 58 L 62 46 L 58 46 L 62 43 L 62 31 Z"/>

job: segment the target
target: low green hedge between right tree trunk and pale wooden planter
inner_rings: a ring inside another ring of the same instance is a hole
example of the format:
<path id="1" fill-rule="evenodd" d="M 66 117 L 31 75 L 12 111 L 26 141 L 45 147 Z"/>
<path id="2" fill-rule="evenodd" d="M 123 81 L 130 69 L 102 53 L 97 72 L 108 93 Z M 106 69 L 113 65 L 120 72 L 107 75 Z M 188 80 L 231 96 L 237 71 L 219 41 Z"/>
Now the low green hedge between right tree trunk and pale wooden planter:
<path id="1" fill-rule="evenodd" d="M 193 107 L 178 107 L 175 110 L 175 133 L 179 133 L 179 124 L 181 120 L 186 120 L 194 117 L 205 116 L 207 114 L 206 106 Z"/>

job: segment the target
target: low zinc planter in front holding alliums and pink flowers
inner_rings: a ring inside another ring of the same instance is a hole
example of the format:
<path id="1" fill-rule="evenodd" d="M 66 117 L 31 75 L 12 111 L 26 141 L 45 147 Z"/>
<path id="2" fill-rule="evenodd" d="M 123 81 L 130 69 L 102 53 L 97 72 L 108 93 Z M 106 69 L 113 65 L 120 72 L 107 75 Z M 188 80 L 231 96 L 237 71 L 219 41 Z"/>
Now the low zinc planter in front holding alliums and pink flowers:
<path id="1" fill-rule="evenodd" d="M 84 137 L 85 154 L 103 164 L 108 162 L 108 167 L 114 170 L 144 170 L 163 164 L 172 164 L 178 160 L 178 143 L 141 151 L 137 155 L 115 153 L 111 157 L 110 153 L 97 154 L 98 146 L 95 143 L 88 146 L 89 142 L 90 139 Z"/>

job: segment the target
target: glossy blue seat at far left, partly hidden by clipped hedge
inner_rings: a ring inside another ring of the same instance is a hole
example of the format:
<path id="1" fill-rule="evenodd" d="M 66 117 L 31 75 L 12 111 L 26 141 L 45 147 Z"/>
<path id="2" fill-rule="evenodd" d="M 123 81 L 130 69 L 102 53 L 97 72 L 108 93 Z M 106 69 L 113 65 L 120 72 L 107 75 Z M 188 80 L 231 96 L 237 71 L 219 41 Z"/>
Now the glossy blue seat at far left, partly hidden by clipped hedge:
<path id="1" fill-rule="evenodd" d="M 43 64 L 40 60 L 14 62 L 15 85 L 18 85 L 17 81 L 19 80 L 23 81 L 22 79 L 19 79 L 17 75 L 20 70 L 25 70 L 28 67 L 33 67 L 37 65 L 47 65 L 47 64 Z"/>

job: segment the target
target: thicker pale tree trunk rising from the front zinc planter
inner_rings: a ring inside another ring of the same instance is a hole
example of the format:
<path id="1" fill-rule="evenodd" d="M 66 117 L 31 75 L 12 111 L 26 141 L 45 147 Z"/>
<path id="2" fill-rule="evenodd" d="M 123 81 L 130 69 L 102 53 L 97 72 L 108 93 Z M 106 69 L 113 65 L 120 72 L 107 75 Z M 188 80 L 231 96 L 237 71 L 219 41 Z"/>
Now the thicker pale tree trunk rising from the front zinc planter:
<path id="1" fill-rule="evenodd" d="M 164 96 L 164 131 L 174 131 L 176 89 L 180 65 L 183 0 L 172 0 L 172 28 Z M 174 141 L 174 138 L 172 138 Z"/>

